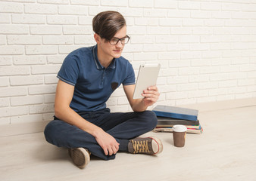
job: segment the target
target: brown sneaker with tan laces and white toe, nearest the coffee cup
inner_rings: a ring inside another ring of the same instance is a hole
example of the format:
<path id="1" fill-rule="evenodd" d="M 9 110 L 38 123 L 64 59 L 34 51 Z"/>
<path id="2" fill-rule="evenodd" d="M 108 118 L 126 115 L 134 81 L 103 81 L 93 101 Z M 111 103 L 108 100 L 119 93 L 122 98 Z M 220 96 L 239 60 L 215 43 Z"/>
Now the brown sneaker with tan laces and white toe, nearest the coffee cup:
<path id="1" fill-rule="evenodd" d="M 161 140 L 156 137 L 137 137 L 130 140 L 128 143 L 128 152 L 133 154 L 144 153 L 148 155 L 158 155 L 162 151 L 163 144 L 161 143 Z"/>

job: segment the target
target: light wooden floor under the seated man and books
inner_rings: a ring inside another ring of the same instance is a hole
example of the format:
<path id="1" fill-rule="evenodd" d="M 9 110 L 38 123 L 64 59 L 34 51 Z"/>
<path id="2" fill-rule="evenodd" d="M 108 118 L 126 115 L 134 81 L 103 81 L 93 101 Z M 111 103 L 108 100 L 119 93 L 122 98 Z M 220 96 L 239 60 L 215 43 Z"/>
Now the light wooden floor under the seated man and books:
<path id="1" fill-rule="evenodd" d="M 113 161 L 92 158 L 81 170 L 67 150 L 45 142 L 42 133 L 0 137 L 0 180 L 256 180 L 256 106 L 199 112 L 204 133 L 187 134 L 186 146 L 161 138 L 161 155 L 118 153 Z"/>

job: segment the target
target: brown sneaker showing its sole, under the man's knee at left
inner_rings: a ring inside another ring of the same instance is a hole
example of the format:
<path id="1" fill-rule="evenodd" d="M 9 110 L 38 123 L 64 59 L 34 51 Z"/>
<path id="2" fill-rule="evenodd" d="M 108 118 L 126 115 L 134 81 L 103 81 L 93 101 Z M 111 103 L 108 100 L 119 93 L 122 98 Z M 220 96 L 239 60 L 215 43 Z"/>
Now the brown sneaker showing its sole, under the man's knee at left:
<path id="1" fill-rule="evenodd" d="M 83 168 L 89 164 L 91 153 L 87 149 L 77 148 L 68 149 L 68 155 L 77 167 Z"/>

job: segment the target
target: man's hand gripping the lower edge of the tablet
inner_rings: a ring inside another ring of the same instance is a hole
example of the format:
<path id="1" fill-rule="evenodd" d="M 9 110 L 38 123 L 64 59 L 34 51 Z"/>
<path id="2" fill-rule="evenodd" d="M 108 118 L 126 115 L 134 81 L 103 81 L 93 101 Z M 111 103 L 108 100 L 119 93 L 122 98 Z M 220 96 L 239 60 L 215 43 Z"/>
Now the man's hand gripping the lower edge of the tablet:
<path id="1" fill-rule="evenodd" d="M 157 102 L 160 94 L 158 92 L 158 87 L 151 86 L 148 87 L 148 90 L 143 90 L 142 97 L 143 103 L 145 106 L 152 106 L 155 102 Z"/>

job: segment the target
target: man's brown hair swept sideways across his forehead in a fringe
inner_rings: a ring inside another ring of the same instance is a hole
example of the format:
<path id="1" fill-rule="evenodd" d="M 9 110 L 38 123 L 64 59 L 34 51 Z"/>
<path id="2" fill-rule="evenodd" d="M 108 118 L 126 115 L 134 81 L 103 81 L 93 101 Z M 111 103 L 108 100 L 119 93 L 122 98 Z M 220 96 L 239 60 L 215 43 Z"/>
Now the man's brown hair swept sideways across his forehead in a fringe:
<path id="1" fill-rule="evenodd" d="M 123 26 L 126 26 L 126 20 L 117 11 L 103 11 L 92 20 L 93 31 L 107 40 L 111 40 Z"/>

